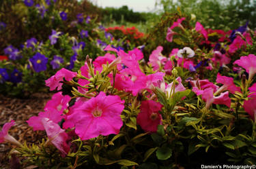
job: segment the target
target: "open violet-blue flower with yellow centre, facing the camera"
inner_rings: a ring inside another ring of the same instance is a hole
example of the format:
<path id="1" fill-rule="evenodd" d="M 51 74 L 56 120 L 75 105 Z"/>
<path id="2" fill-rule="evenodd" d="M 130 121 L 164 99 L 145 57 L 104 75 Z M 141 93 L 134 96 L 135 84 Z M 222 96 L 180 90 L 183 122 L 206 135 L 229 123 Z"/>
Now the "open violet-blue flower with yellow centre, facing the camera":
<path id="1" fill-rule="evenodd" d="M 29 61 L 32 63 L 35 72 L 46 71 L 48 58 L 43 54 L 36 53 Z"/>

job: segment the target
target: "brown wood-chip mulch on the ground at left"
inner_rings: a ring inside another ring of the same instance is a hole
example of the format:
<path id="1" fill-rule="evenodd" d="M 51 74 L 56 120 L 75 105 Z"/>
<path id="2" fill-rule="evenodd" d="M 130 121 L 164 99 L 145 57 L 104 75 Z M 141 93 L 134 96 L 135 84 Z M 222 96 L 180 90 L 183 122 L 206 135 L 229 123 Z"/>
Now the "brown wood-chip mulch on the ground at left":
<path id="1" fill-rule="evenodd" d="M 33 129 L 28 126 L 27 120 L 29 117 L 38 115 L 43 111 L 44 105 L 51 99 L 52 94 L 38 93 L 32 94 L 30 98 L 8 98 L 0 94 L 0 131 L 6 122 L 11 119 L 15 120 L 16 125 L 9 130 L 9 134 L 14 136 L 20 143 L 28 144 L 37 143 L 46 136 L 44 131 L 33 132 Z M 10 151 L 12 145 L 9 143 L 0 144 L 0 168 L 10 168 Z"/>

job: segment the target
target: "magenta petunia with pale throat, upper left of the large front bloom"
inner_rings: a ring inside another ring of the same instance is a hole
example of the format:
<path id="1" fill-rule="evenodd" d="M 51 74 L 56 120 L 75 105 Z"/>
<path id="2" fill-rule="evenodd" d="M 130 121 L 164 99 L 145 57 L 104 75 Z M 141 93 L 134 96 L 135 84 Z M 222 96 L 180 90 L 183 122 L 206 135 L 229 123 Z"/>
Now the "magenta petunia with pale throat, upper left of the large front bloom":
<path id="1" fill-rule="evenodd" d="M 44 111 L 48 111 L 48 109 L 56 109 L 59 113 L 63 113 L 63 111 L 68 108 L 70 99 L 70 96 L 63 96 L 62 92 L 57 92 L 56 94 L 53 94 L 51 100 L 48 100 L 44 107 Z"/>

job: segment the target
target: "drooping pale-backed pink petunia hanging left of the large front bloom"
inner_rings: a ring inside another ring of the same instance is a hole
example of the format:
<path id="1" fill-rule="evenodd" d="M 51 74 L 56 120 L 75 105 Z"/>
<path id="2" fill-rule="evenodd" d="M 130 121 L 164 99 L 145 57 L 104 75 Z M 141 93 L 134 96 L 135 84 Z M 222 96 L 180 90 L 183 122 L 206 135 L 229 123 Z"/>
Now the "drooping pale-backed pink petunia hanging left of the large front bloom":
<path id="1" fill-rule="evenodd" d="M 59 149 L 59 151 L 61 151 L 61 155 L 65 157 L 65 155 L 68 154 L 68 151 L 70 151 L 70 147 L 66 143 L 68 134 L 66 134 L 65 130 L 61 129 L 58 124 L 48 118 L 44 117 L 41 121 L 48 139 L 57 149 Z"/>

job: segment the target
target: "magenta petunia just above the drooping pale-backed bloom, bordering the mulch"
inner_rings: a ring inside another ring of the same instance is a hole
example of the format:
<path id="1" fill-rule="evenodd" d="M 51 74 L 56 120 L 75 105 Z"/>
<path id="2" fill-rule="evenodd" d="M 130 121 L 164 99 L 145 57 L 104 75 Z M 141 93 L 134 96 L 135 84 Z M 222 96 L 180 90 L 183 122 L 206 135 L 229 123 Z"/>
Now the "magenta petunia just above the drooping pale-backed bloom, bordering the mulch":
<path id="1" fill-rule="evenodd" d="M 61 119 L 64 118 L 62 113 L 59 113 L 56 109 L 48 108 L 45 112 L 40 112 L 38 116 L 32 116 L 27 120 L 27 124 L 33 128 L 33 131 L 44 130 L 44 125 L 42 124 L 42 119 L 47 118 L 55 123 L 59 123 Z"/>

